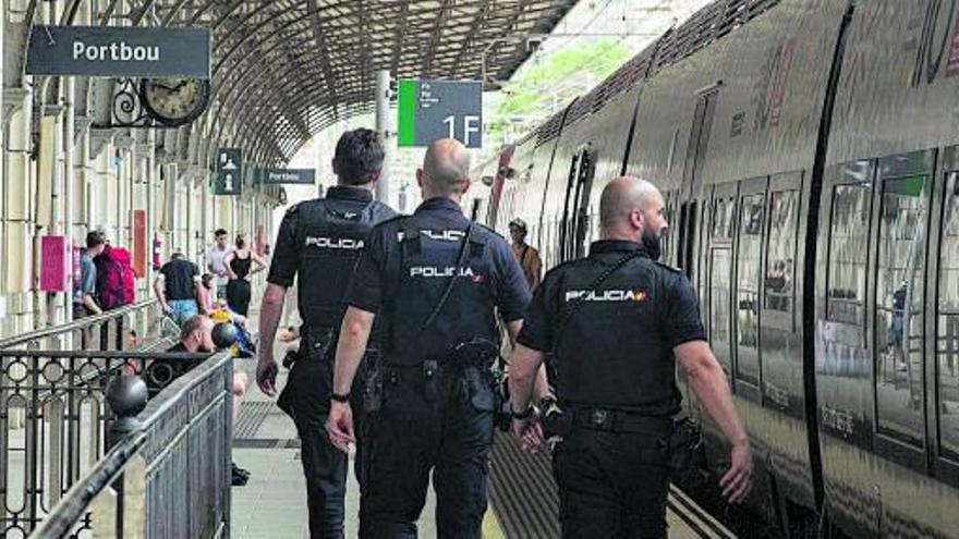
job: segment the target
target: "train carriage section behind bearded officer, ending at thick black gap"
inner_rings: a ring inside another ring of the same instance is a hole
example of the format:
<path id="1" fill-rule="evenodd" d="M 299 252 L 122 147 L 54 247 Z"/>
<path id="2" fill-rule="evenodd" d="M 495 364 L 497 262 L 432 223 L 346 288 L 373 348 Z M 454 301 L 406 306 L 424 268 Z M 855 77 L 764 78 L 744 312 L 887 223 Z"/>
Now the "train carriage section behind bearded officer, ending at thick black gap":
<path id="1" fill-rule="evenodd" d="M 750 504 L 789 527 L 814 519 L 820 490 L 801 246 L 843 11 L 841 2 L 781 1 L 658 71 L 640 100 L 628 163 L 666 194 L 669 260 L 701 295 L 711 344 L 749 425 Z M 704 424 L 709 465 L 721 471 L 728 448 Z"/>

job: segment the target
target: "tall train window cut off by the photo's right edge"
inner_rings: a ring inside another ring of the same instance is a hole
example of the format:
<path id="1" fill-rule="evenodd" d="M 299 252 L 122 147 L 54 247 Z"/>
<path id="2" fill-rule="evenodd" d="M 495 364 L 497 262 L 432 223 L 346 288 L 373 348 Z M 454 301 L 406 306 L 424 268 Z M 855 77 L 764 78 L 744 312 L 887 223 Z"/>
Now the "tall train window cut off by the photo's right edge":
<path id="1" fill-rule="evenodd" d="M 936 360 L 939 453 L 959 461 L 959 172 L 949 174 L 943 197 L 939 244 Z"/>

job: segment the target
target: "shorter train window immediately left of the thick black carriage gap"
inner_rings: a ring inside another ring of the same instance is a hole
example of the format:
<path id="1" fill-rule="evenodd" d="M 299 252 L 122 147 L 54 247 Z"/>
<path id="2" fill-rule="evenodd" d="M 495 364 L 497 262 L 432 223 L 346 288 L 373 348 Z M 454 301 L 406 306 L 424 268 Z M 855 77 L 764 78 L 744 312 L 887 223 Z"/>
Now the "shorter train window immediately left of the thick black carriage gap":
<path id="1" fill-rule="evenodd" d="M 773 193 L 769 201 L 769 243 L 766 252 L 766 279 L 763 302 L 767 309 L 792 313 L 796 261 L 796 224 L 799 218 L 799 193 Z"/>

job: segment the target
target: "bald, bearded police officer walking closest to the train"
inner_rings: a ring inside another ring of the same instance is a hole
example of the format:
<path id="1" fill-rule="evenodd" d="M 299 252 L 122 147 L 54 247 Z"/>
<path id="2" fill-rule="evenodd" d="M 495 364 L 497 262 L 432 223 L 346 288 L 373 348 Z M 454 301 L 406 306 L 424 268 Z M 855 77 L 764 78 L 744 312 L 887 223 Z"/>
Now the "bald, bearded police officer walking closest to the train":
<path id="1" fill-rule="evenodd" d="M 538 436 L 533 378 L 556 362 L 554 452 L 562 535 L 666 537 L 667 463 L 680 412 L 675 362 L 732 443 L 720 485 L 731 502 L 751 488 L 749 439 L 723 369 L 705 341 L 692 286 L 658 264 L 663 196 L 648 182 L 617 177 L 599 201 L 602 240 L 585 258 L 550 270 L 526 310 L 510 369 L 513 433 Z M 550 419 L 554 416 L 550 414 Z"/>

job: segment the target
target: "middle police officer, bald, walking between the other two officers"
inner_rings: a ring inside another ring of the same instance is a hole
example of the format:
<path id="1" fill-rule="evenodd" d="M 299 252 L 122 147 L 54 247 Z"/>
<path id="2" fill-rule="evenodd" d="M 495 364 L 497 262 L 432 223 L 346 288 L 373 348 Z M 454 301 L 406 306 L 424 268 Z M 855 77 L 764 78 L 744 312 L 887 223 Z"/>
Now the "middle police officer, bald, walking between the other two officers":
<path id="1" fill-rule="evenodd" d="M 460 143 L 428 148 L 416 173 L 425 201 L 373 230 L 347 294 L 326 425 L 344 451 L 355 440 L 349 393 L 374 314 L 389 327 L 383 403 L 364 440 L 361 537 L 416 537 L 430 471 L 438 537 L 481 537 L 496 314 L 512 340 L 530 292 L 506 241 L 463 217 L 469 169 Z"/>

